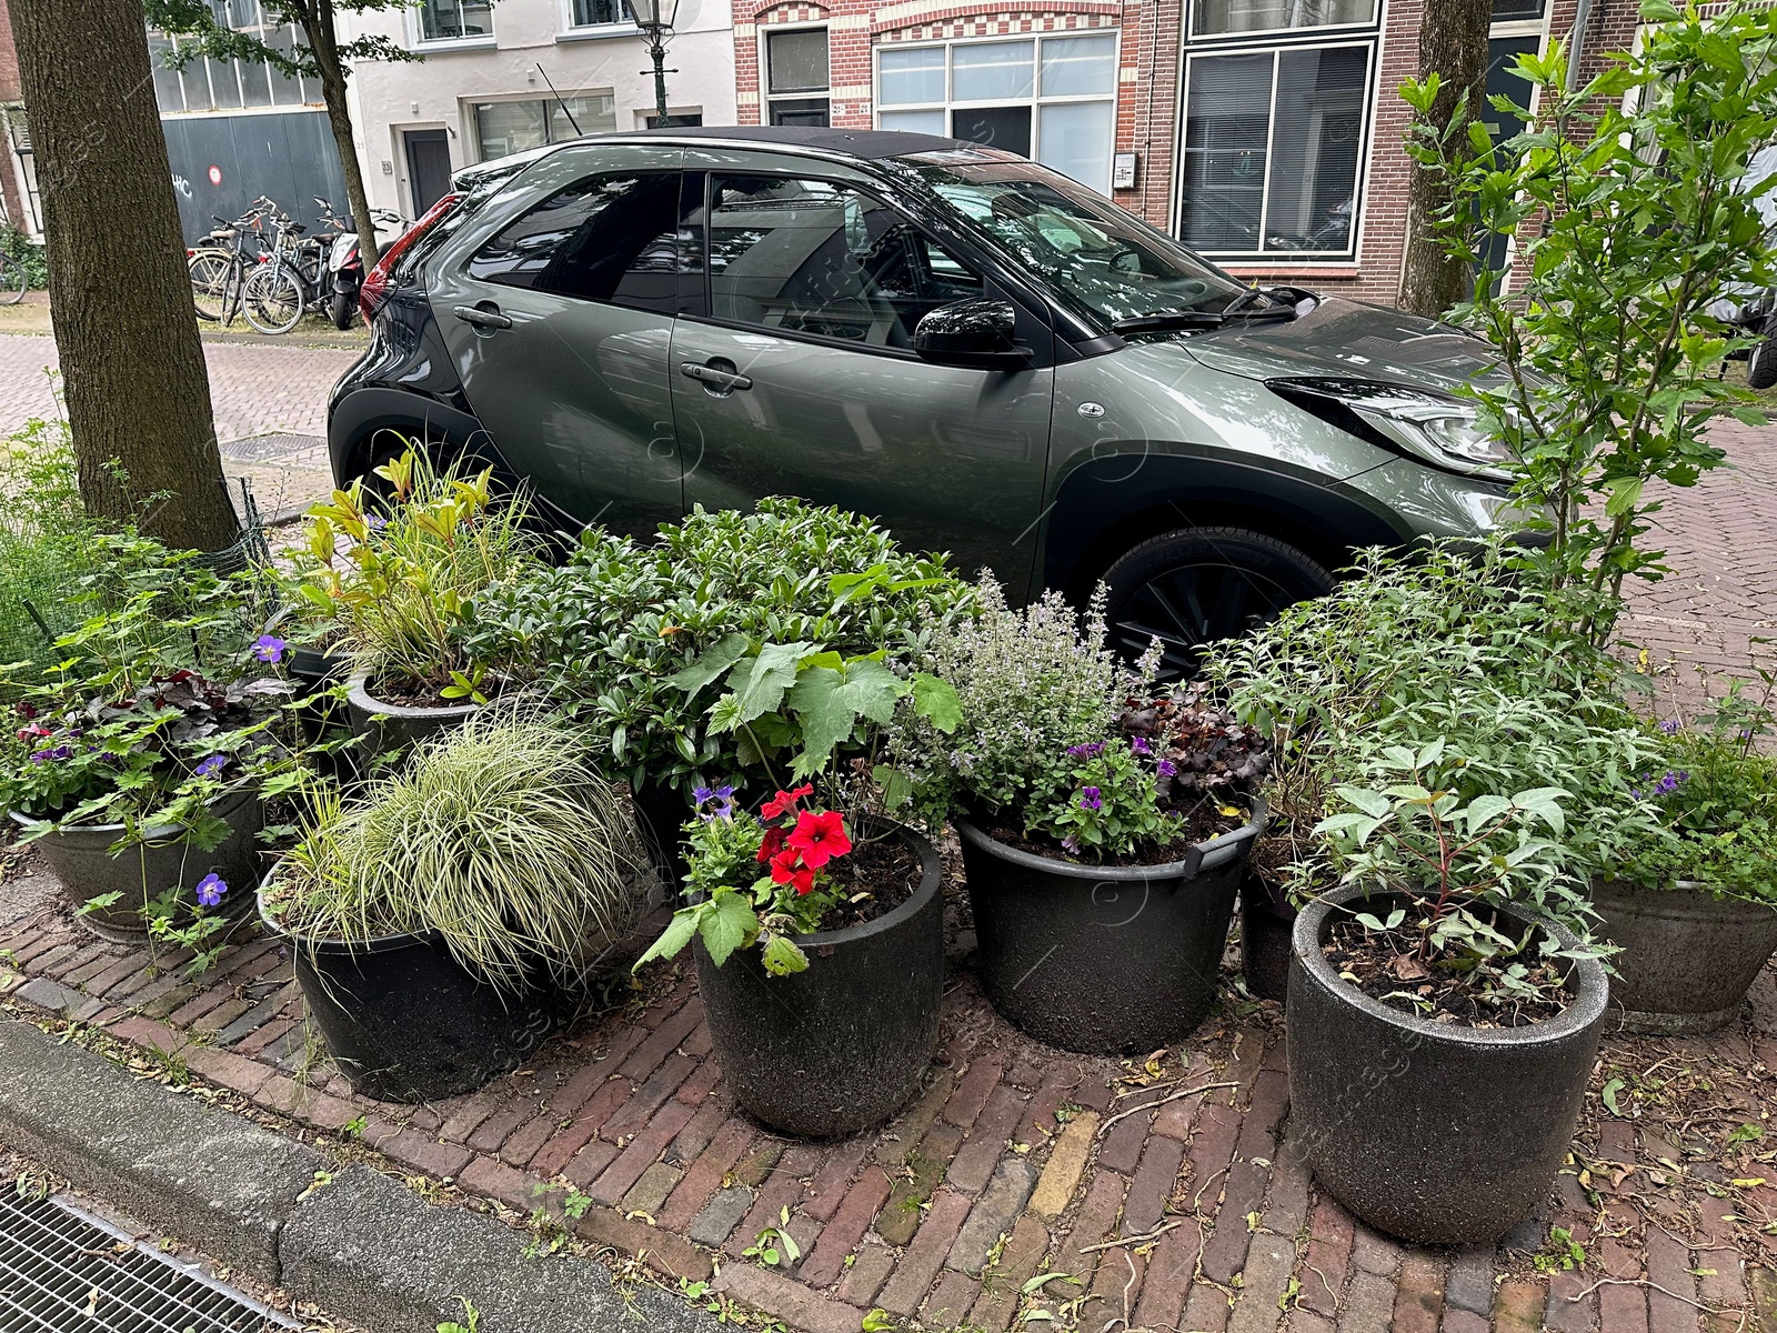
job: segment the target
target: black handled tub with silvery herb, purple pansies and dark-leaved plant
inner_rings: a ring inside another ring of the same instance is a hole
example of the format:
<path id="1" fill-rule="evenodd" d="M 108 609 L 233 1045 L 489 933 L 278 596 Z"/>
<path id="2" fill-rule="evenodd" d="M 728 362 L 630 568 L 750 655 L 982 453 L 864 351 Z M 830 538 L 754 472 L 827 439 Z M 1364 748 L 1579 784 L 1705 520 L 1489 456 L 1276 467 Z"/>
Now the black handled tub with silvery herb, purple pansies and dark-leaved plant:
<path id="1" fill-rule="evenodd" d="M 993 1006 L 1080 1052 L 1153 1050 L 1215 997 L 1240 864 L 1263 826 L 1249 784 L 1260 734 L 1196 693 L 1157 698 L 1105 647 L 1102 599 L 1084 635 L 1050 594 L 933 642 L 960 725 L 904 748 L 928 809 L 954 809 Z"/>

